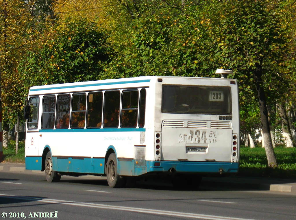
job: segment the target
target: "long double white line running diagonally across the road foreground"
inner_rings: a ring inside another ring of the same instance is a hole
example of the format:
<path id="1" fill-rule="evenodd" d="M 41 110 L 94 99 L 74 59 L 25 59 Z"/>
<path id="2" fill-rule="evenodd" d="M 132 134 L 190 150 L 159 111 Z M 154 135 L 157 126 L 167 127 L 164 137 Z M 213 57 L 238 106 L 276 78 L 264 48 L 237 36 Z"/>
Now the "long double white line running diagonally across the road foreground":
<path id="1" fill-rule="evenodd" d="M 105 204 L 98 204 L 98 203 L 83 203 L 83 202 L 66 201 L 66 200 L 44 199 L 44 198 L 38 198 L 38 197 L 26 197 L 26 196 L 15 196 L 15 195 L 5 195 L 5 194 L 0 194 L 0 197 L 4 197 L 4 198 L 14 197 L 14 199 L 36 201 L 36 202 L 43 202 L 43 203 L 57 203 L 57 204 L 75 205 L 75 206 L 92 207 L 92 208 L 104 208 L 104 209 L 131 211 L 131 212 L 139 212 L 139 213 L 148 213 L 148 214 L 154 214 L 154 215 L 187 217 L 187 218 L 194 218 L 194 219 L 251 220 L 251 219 L 242 219 L 242 218 L 235 218 L 235 217 L 204 215 L 204 214 L 198 214 L 198 213 L 186 213 L 186 212 L 175 212 L 175 211 L 148 209 L 148 208 L 136 208 L 136 207 L 127 207 L 127 206 L 118 206 L 118 205 L 105 205 Z"/>

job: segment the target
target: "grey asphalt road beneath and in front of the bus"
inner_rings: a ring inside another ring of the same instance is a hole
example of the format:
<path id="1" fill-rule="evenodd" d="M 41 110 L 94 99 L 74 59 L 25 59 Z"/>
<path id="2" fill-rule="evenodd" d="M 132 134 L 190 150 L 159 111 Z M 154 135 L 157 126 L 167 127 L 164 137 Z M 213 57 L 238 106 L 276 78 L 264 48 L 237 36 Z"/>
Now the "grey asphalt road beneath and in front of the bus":
<path id="1" fill-rule="evenodd" d="M 296 195 L 233 191 L 213 188 L 213 184 L 196 191 L 174 190 L 166 183 L 138 183 L 134 188 L 116 189 L 108 187 L 105 180 L 91 177 L 62 176 L 61 182 L 48 183 L 40 174 L 0 173 L 0 220 L 34 216 L 34 219 L 292 220 L 296 219 Z"/>

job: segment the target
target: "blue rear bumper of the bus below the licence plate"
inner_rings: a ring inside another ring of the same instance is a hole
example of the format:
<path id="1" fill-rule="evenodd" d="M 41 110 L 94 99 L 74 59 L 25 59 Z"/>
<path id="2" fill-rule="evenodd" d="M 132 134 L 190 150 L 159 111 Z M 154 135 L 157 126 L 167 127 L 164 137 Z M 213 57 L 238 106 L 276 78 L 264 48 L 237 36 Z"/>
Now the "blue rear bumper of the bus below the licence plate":
<path id="1" fill-rule="evenodd" d="M 159 166 L 156 166 L 159 165 Z M 186 173 L 237 173 L 239 163 L 231 162 L 190 162 L 190 161 L 147 161 L 148 172 Z"/>

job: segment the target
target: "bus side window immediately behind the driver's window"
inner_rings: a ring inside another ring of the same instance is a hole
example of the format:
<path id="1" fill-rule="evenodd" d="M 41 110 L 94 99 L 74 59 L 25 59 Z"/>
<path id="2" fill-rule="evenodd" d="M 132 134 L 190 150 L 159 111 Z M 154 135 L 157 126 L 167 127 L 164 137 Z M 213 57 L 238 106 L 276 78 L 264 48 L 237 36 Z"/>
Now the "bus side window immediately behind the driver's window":
<path id="1" fill-rule="evenodd" d="M 55 96 L 43 97 L 41 128 L 54 128 Z"/>

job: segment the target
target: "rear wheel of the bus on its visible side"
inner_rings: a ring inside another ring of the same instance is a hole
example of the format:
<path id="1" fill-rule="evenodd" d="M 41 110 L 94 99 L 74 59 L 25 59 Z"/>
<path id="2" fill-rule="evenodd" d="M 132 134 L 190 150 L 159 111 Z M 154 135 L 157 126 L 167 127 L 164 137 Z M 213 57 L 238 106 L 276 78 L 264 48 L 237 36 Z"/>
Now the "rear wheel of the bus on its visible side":
<path id="1" fill-rule="evenodd" d="M 117 160 L 115 153 L 109 155 L 106 166 L 106 176 L 110 187 L 123 187 L 125 179 L 117 174 Z"/>

